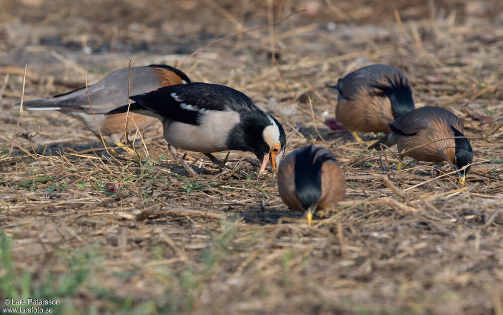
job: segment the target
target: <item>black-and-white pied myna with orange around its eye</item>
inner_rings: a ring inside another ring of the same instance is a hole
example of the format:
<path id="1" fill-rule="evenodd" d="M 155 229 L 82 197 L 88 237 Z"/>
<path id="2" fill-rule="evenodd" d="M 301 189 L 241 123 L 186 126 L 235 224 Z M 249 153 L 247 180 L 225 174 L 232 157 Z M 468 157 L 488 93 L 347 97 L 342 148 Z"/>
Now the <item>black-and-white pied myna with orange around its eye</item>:
<path id="1" fill-rule="evenodd" d="M 130 112 L 159 119 L 164 139 L 175 159 L 191 176 L 196 172 L 180 157 L 176 148 L 204 153 L 223 166 L 211 153 L 239 150 L 254 153 L 262 161 L 262 174 L 268 161 L 272 171 L 279 165 L 286 148 L 281 124 L 263 112 L 243 93 L 228 86 L 187 83 L 159 88 L 129 97 Z M 110 111 L 124 113 L 127 105 Z"/>

